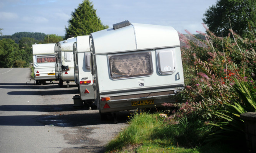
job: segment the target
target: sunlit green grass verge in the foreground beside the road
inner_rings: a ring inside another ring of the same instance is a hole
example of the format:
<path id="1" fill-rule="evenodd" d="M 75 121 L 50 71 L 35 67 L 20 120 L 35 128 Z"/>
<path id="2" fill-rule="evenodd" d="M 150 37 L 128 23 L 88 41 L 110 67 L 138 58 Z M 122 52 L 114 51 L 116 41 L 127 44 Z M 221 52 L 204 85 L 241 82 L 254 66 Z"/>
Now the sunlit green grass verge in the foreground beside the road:
<path id="1" fill-rule="evenodd" d="M 195 117 L 170 125 L 158 113 L 137 113 L 129 126 L 109 142 L 106 153 L 238 153 L 227 144 L 203 144 L 207 126 Z"/>

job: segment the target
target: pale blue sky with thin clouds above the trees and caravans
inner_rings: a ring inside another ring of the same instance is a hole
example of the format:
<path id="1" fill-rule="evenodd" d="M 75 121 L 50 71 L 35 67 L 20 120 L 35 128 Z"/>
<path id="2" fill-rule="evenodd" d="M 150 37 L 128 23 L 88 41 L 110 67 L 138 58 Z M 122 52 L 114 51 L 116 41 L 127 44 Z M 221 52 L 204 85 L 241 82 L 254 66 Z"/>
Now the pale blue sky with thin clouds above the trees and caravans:
<path id="1" fill-rule="evenodd" d="M 71 13 L 83 0 L 0 0 L 3 35 L 43 32 L 64 35 Z M 217 0 L 91 0 L 102 24 L 131 23 L 172 26 L 185 33 L 205 32 L 201 25 L 206 9 Z"/>

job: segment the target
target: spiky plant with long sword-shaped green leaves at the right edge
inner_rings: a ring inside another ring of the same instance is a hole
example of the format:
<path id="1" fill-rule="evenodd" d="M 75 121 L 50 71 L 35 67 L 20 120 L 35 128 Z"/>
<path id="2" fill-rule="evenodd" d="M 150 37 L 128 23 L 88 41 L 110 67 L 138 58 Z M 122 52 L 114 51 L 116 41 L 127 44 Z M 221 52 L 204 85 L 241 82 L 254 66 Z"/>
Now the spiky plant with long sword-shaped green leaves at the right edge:
<path id="1" fill-rule="evenodd" d="M 208 141 L 229 141 L 246 142 L 244 134 L 244 121 L 240 118 L 240 114 L 246 112 L 256 112 L 256 89 L 249 82 L 238 82 L 235 79 L 235 84 L 231 90 L 239 97 L 232 99 L 232 103 L 225 103 L 225 110 L 213 111 L 213 114 L 221 120 L 215 124 L 219 127 L 213 132 Z M 243 144 L 245 146 L 245 144 Z"/>

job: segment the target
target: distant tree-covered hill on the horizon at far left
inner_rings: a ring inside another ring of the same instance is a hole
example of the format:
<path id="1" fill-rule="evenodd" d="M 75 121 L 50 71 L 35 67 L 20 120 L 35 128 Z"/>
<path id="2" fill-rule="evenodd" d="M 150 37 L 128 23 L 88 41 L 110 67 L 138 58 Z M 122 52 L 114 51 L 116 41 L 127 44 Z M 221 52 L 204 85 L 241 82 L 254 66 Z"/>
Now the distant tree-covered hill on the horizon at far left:
<path id="1" fill-rule="evenodd" d="M 29 37 L 34 38 L 35 40 L 38 40 L 40 42 L 43 42 L 43 39 L 45 38 L 46 34 L 41 32 L 16 32 L 13 35 L 3 35 L 0 36 L 0 39 L 13 39 L 16 43 L 20 41 L 22 37 Z"/>

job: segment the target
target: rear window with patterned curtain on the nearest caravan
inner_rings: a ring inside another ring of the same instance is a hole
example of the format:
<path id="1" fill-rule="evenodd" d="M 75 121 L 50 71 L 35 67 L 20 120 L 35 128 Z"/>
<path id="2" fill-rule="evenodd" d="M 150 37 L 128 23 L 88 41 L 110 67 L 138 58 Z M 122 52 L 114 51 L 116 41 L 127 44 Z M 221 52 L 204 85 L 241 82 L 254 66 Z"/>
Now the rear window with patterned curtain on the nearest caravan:
<path id="1" fill-rule="evenodd" d="M 151 52 L 109 55 L 112 79 L 149 76 L 153 73 Z"/>

